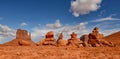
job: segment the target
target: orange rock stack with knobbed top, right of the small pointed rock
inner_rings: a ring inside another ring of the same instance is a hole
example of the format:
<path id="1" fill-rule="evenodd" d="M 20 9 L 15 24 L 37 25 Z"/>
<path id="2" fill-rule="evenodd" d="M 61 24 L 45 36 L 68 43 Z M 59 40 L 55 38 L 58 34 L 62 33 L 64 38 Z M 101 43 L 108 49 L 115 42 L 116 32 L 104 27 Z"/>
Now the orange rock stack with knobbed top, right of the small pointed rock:
<path id="1" fill-rule="evenodd" d="M 75 32 L 72 32 L 71 38 L 68 39 L 68 45 L 80 47 L 82 46 L 82 43 L 83 42 L 79 38 L 77 38 L 77 34 Z"/>

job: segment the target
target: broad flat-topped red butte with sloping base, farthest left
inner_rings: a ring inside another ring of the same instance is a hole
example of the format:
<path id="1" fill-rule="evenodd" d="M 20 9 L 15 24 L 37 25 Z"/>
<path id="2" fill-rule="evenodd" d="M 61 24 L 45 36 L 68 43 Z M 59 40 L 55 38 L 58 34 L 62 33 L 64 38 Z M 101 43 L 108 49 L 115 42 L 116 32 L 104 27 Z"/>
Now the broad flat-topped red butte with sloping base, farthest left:
<path id="1" fill-rule="evenodd" d="M 29 34 L 26 30 L 17 29 L 16 38 L 10 42 L 4 43 L 3 45 L 35 46 L 36 44 L 31 40 L 31 34 Z"/>

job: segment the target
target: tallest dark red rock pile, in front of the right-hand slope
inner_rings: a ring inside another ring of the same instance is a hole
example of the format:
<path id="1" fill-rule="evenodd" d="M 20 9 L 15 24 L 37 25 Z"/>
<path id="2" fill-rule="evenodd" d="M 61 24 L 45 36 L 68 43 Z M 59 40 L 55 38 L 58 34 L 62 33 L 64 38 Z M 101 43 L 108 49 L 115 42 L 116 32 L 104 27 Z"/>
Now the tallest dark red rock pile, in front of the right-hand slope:
<path id="1" fill-rule="evenodd" d="M 103 34 L 99 33 L 99 28 L 95 27 L 92 33 L 89 34 L 89 43 L 92 46 L 114 46 L 111 42 L 107 42 L 103 39 Z"/>

